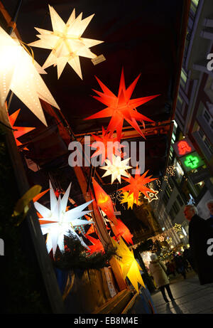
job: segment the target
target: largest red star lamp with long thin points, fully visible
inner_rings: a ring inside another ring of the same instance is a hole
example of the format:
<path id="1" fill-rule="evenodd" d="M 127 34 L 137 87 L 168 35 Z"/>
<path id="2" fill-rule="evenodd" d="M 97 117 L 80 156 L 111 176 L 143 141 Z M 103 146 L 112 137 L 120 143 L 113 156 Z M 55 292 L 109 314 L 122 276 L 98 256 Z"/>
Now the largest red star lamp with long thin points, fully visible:
<path id="1" fill-rule="evenodd" d="M 121 139 L 121 131 L 124 120 L 126 120 L 134 129 L 136 129 L 139 134 L 141 134 L 142 137 L 144 137 L 143 131 L 138 126 L 137 121 L 141 122 L 143 124 L 143 127 L 145 127 L 144 121 L 154 121 L 137 112 L 136 107 L 143 105 L 145 102 L 148 102 L 149 100 L 152 100 L 155 97 L 158 97 L 158 95 L 130 99 L 139 77 L 140 75 L 138 75 L 136 80 L 134 80 L 133 83 L 129 85 L 129 88 L 126 89 L 124 80 L 124 69 L 122 68 L 118 96 L 114 95 L 114 93 L 111 92 L 97 78 L 97 82 L 99 83 L 103 92 L 94 90 L 94 92 L 96 92 L 99 97 L 93 97 L 102 102 L 104 105 L 106 105 L 107 108 L 101 110 L 100 112 L 97 112 L 92 116 L 87 117 L 84 120 L 93 120 L 101 117 L 111 117 L 111 120 L 107 127 L 107 132 L 113 133 L 114 131 L 116 131 L 119 140 Z"/>

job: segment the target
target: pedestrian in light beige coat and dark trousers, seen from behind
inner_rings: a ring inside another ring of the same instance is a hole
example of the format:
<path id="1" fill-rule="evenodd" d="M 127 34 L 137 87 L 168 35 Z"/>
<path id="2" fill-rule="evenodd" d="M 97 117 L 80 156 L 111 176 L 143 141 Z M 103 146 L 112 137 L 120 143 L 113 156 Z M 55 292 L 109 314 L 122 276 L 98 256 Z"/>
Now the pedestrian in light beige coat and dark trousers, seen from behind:
<path id="1" fill-rule="evenodd" d="M 165 295 L 165 290 L 168 292 L 168 296 L 170 300 L 173 301 L 174 297 L 170 290 L 170 281 L 168 280 L 168 276 L 166 274 L 166 266 L 163 262 L 158 260 L 156 254 L 151 254 L 151 263 L 149 264 L 149 270 L 153 279 L 155 280 L 155 285 L 157 288 L 160 289 L 160 292 L 163 295 L 163 299 L 166 303 L 168 303 L 168 298 Z"/>

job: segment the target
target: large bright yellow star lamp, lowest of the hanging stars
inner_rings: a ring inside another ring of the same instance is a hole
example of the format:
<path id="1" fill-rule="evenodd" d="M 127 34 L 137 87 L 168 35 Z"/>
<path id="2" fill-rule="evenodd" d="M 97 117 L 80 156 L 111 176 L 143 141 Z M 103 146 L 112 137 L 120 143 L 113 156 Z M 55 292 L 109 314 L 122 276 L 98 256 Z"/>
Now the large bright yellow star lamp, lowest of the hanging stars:
<path id="1" fill-rule="evenodd" d="M 119 243 L 116 243 L 116 241 L 111 238 L 111 242 L 114 245 L 114 248 L 116 248 L 116 253 L 119 255 L 119 265 L 121 266 L 121 271 L 123 274 L 124 279 L 126 277 L 129 278 L 131 284 L 135 288 L 135 290 L 138 292 L 138 282 L 143 287 L 145 287 L 143 279 L 141 277 L 140 270 L 142 271 L 140 265 L 138 265 L 138 262 L 134 258 L 133 250 L 129 250 L 129 248 L 124 243 L 124 240 L 122 238 L 119 239 Z"/>

